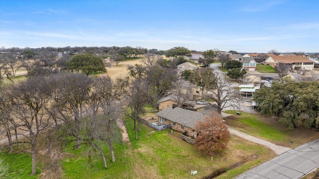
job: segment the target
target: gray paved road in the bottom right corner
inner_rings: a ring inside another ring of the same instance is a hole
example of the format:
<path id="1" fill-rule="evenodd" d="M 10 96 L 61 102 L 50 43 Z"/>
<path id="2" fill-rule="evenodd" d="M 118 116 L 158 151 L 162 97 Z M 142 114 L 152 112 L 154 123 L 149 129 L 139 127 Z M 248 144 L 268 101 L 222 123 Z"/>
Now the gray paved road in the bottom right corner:
<path id="1" fill-rule="evenodd" d="M 319 139 L 242 174 L 235 179 L 300 179 L 319 167 Z"/>

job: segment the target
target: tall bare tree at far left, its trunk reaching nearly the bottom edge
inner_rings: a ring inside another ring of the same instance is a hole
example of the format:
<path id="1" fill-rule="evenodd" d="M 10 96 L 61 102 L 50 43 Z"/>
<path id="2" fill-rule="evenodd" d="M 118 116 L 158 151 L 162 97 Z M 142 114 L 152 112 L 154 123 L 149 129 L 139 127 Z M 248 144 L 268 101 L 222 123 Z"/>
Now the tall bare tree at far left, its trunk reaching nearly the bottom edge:
<path id="1" fill-rule="evenodd" d="M 21 82 L 11 91 L 11 114 L 15 120 L 21 122 L 19 131 L 31 145 L 32 173 L 36 174 L 36 144 L 41 131 L 53 125 L 51 117 L 46 112 L 44 105 L 47 105 L 47 86 L 43 77 L 29 78 Z M 27 132 L 27 133 L 24 133 Z"/>

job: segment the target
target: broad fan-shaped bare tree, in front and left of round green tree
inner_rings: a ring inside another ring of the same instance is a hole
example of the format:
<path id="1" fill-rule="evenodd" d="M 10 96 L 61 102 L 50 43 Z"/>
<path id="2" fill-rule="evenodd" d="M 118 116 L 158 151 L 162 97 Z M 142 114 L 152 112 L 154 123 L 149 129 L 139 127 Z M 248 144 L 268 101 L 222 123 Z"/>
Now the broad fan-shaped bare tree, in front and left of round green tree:
<path id="1" fill-rule="evenodd" d="M 49 114 L 57 124 L 67 126 L 66 133 L 75 137 L 76 148 L 80 148 L 80 122 L 92 80 L 83 74 L 59 73 L 51 75 L 46 83 L 51 94 Z"/>

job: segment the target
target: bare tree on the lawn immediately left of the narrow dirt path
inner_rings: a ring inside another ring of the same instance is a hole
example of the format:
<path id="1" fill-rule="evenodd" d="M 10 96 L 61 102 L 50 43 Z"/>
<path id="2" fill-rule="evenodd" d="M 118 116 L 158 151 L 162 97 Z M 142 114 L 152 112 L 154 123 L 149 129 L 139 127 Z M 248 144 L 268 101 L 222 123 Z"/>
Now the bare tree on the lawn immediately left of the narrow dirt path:
<path id="1" fill-rule="evenodd" d="M 122 104 L 120 101 L 124 91 L 121 82 L 113 82 L 110 77 L 103 76 L 94 79 L 89 94 L 88 106 L 91 106 L 92 116 L 96 118 L 96 120 L 90 122 L 92 127 L 95 128 L 91 137 L 102 139 L 108 143 L 112 162 L 115 162 L 112 144 L 114 122 L 121 116 Z M 101 112 L 98 113 L 99 109 L 102 110 L 102 114 Z"/>

